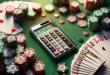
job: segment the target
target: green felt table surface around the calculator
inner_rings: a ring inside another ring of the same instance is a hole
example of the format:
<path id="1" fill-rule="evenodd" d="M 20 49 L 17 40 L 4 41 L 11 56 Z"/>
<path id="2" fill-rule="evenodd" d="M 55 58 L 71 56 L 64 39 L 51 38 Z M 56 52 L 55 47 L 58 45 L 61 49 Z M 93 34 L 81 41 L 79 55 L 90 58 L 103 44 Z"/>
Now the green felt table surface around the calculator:
<path id="1" fill-rule="evenodd" d="M 4 1 L 9 1 L 9 0 L 0 0 L 1 2 Z M 14 0 L 12 0 L 14 1 Z M 50 4 L 51 0 L 23 0 L 23 1 L 29 1 L 29 2 L 39 2 L 42 4 L 43 6 L 43 12 L 45 12 L 44 10 L 44 6 L 46 4 Z M 73 0 L 71 0 L 73 1 Z M 108 0 L 108 4 L 110 4 L 110 1 Z M 80 5 L 81 11 L 85 12 L 85 9 L 83 7 L 83 5 Z M 56 68 L 57 68 L 57 64 L 61 63 L 61 62 L 65 62 L 67 64 L 67 66 L 69 67 L 68 73 L 67 75 L 70 75 L 70 66 L 71 66 L 71 61 L 74 58 L 74 55 L 76 53 L 76 51 L 80 48 L 80 46 L 82 44 L 84 44 L 89 37 L 91 37 L 94 33 L 92 31 L 90 31 L 87 27 L 86 28 L 80 28 L 76 23 L 69 23 L 67 22 L 66 18 L 68 15 L 74 15 L 75 13 L 70 12 L 69 14 L 65 15 L 65 16 L 61 16 L 59 18 L 55 18 L 53 15 L 54 13 L 58 13 L 58 7 L 55 7 L 55 11 L 53 13 L 46 13 L 47 17 L 43 18 L 40 15 L 38 15 L 36 17 L 35 20 L 25 20 L 22 24 L 22 27 L 24 29 L 24 31 L 22 33 L 24 33 L 27 36 L 27 47 L 31 47 L 34 48 L 36 51 L 36 59 L 43 61 L 45 63 L 45 74 L 46 75 L 59 75 Z M 52 19 L 57 25 L 58 27 L 60 27 L 65 34 L 67 34 L 67 36 L 76 44 L 77 49 L 69 54 L 67 54 L 65 57 L 63 57 L 62 59 L 59 60 L 55 60 L 53 59 L 50 54 L 38 43 L 37 40 L 35 40 L 35 38 L 30 35 L 29 32 L 29 28 L 38 23 L 41 22 L 42 20 L 45 20 L 47 18 Z M 65 20 L 65 24 L 61 25 L 59 24 L 59 20 Z M 87 18 L 86 18 L 87 19 Z M 78 19 L 77 19 L 78 20 Z M 89 36 L 84 36 L 83 35 L 83 31 L 87 31 L 89 32 Z M 81 37 L 84 39 L 83 43 L 79 43 L 77 41 L 77 38 Z"/>

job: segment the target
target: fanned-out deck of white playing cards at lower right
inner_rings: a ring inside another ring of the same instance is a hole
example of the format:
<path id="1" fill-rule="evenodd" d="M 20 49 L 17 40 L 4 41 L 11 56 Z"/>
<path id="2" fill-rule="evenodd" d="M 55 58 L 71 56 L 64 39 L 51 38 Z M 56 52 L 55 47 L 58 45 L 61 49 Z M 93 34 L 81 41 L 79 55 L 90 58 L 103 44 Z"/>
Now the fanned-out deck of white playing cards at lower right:
<path id="1" fill-rule="evenodd" d="M 110 75 L 110 32 L 98 32 L 81 46 L 71 64 L 71 75 Z"/>

